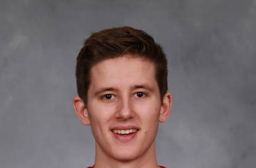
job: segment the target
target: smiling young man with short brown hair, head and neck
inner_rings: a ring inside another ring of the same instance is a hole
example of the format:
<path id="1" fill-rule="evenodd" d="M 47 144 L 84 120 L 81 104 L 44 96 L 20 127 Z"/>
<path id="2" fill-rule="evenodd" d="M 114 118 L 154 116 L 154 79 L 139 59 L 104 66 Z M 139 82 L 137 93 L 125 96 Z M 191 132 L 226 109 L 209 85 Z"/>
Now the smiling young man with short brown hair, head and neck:
<path id="1" fill-rule="evenodd" d="M 95 139 L 94 168 L 157 168 L 158 123 L 170 115 L 167 61 L 142 30 L 93 33 L 77 56 L 74 110 Z"/>

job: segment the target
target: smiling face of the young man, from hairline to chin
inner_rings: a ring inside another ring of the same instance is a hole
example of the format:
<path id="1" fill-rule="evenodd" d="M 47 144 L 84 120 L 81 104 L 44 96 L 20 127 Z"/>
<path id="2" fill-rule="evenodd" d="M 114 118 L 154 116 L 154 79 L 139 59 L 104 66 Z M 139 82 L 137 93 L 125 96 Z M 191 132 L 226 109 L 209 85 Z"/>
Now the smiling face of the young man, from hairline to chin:
<path id="1" fill-rule="evenodd" d="M 86 108 L 96 152 L 131 161 L 152 150 L 161 111 L 154 63 L 140 57 L 111 58 L 93 66 L 90 81 Z M 137 132 L 118 134 L 131 129 Z"/>

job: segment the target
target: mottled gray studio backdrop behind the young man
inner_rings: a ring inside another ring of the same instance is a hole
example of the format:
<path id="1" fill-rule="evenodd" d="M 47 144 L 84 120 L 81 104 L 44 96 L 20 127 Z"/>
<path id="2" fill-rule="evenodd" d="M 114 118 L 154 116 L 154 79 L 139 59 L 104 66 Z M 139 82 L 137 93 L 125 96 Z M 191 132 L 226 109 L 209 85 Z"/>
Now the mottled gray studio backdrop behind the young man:
<path id="1" fill-rule="evenodd" d="M 77 119 L 75 59 L 103 28 L 143 29 L 169 60 L 170 120 L 158 162 L 256 165 L 256 1 L 1 1 L 0 167 L 86 167 L 90 127 Z"/>

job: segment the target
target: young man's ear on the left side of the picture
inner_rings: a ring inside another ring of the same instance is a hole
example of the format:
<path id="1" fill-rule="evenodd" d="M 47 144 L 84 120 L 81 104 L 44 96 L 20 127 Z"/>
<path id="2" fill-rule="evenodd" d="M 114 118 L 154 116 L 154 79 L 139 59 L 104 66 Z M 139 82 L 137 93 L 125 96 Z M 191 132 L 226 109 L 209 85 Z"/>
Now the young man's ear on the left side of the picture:
<path id="1" fill-rule="evenodd" d="M 73 99 L 73 108 L 76 112 L 76 115 L 78 119 L 84 124 L 84 125 L 90 125 L 90 119 L 88 115 L 87 108 L 85 106 L 84 101 L 81 97 L 76 96 Z"/>

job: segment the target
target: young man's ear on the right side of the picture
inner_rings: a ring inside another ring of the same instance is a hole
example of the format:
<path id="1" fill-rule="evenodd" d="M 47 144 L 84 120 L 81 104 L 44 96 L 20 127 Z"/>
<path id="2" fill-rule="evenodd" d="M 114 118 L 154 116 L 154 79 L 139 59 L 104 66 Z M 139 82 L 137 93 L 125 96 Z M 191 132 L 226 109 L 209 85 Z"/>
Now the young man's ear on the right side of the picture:
<path id="1" fill-rule="evenodd" d="M 163 103 L 160 110 L 159 115 L 159 122 L 165 122 L 170 113 L 171 113 L 171 106 L 172 106 L 172 95 L 171 93 L 167 92 L 163 97 Z"/>

